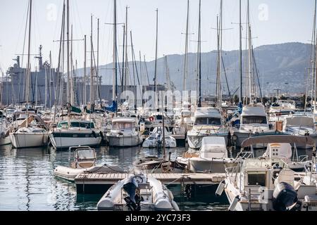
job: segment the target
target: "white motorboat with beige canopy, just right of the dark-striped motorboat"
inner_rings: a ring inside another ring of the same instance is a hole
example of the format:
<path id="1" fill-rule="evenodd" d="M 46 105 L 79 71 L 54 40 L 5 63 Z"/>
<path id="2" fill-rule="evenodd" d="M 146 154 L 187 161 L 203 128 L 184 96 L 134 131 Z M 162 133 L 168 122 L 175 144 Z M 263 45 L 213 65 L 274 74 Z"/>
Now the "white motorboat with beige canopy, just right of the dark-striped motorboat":
<path id="1" fill-rule="evenodd" d="M 112 120 L 111 131 L 106 134 L 109 146 L 132 147 L 142 143 L 142 136 L 137 131 L 136 118 L 118 117 Z"/>

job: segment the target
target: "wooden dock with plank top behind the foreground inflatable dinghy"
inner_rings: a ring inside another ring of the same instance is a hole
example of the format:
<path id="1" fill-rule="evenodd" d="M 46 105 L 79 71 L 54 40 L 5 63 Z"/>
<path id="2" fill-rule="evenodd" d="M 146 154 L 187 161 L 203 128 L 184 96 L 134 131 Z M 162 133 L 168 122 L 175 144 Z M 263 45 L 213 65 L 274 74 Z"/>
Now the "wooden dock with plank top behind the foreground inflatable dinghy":
<path id="1" fill-rule="evenodd" d="M 110 186 L 127 176 L 127 173 L 79 174 L 75 178 L 77 193 L 105 193 Z M 148 174 L 148 176 L 166 185 L 216 185 L 225 179 L 225 174 Z"/>

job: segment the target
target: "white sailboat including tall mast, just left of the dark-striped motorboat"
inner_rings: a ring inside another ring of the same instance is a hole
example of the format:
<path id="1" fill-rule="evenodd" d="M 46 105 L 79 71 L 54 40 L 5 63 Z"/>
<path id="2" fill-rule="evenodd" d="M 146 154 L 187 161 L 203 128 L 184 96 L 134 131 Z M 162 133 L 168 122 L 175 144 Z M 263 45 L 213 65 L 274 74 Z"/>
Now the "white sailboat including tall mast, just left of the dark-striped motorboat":
<path id="1" fill-rule="evenodd" d="M 30 0 L 30 18 L 29 18 L 29 40 L 28 40 L 28 53 L 27 53 L 27 79 L 26 79 L 26 119 L 20 124 L 19 128 L 10 134 L 12 146 L 14 148 L 31 148 L 45 146 L 48 143 L 49 134 L 46 129 L 39 127 L 33 115 L 29 117 L 28 108 L 30 101 L 30 48 L 31 48 L 31 25 L 32 25 L 32 0 Z M 43 124 L 42 124 L 43 125 Z"/>

